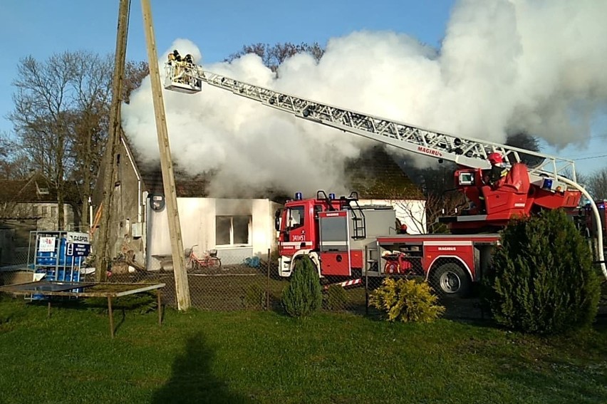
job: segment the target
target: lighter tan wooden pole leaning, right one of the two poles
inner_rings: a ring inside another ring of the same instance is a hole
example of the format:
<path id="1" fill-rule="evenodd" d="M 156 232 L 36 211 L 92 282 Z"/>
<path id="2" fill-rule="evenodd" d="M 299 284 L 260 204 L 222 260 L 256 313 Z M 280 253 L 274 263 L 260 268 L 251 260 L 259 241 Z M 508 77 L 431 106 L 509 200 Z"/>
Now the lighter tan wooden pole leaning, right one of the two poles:
<path id="1" fill-rule="evenodd" d="M 150 78 L 152 79 L 152 100 L 154 101 L 154 115 L 156 117 L 156 133 L 158 147 L 160 148 L 160 167 L 162 168 L 162 184 L 165 189 L 167 219 L 169 220 L 169 235 L 171 239 L 171 252 L 173 259 L 173 273 L 175 274 L 175 291 L 177 293 L 177 309 L 190 309 L 190 287 L 187 283 L 185 271 L 185 258 L 183 254 L 183 241 L 179 212 L 177 210 L 177 192 L 175 192 L 175 177 L 171 160 L 167 118 L 165 115 L 165 101 L 162 98 L 160 72 L 158 71 L 158 56 L 156 53 L 156 40 L 154 38 L 154 24 L 150 0 L 141 0 L 143 14 L 143 29 L 147 44 L 147 61 L 150 65 Z"/>

